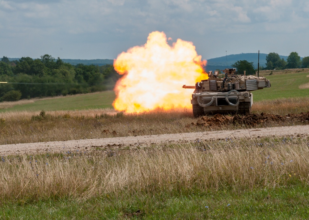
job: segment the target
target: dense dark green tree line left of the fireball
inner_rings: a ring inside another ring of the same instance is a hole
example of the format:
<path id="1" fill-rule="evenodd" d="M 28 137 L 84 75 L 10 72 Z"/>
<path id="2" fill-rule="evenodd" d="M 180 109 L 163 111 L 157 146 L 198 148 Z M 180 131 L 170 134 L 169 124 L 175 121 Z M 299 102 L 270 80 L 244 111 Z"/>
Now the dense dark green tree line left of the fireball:
<path id="1" fill-rule="evenodd" d="M 103 66 L 63 62 L 59 57 L 22 57 L 0 61 L 0 101 L 104 91 L 114 88 L 120 75 L 112 64 Z"/>

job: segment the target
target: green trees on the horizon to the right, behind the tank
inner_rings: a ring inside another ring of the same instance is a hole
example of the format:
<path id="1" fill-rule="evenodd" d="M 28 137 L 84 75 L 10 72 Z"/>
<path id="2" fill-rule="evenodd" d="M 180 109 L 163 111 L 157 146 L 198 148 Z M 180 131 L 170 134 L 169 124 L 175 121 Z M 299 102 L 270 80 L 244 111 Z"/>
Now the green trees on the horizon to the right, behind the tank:
<path id="1" fill-rule="evenodd" d="M 253 62 L 247 60 L 238 60 L 232 67 L 237 69 L 238 74 L 246 71 L 247 75 L 254 75 L 257 71 Z M 296 69 L 296 68 L 309 68 L 309 56 L 304 57 L 302 60 L 297 52 L 291 52 L 286 60 L 281 59 L 279 54 L 272 52 L 266 56 L 266 67 L 260 67 L 260 70 L 283 70 L 283 69 Z"/>

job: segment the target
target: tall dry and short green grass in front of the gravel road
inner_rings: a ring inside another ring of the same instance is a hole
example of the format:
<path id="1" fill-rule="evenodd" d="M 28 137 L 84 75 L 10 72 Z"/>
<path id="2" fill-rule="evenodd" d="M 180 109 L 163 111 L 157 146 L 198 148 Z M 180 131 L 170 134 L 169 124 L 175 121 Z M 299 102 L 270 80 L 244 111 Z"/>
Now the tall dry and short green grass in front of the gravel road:
<path id="1" fill-rule="evenodd" d="M 2 217 L 307 218 L 308 138 L 2 156 Z M 27 219 L 27 218 L 26 218 Z"/>

